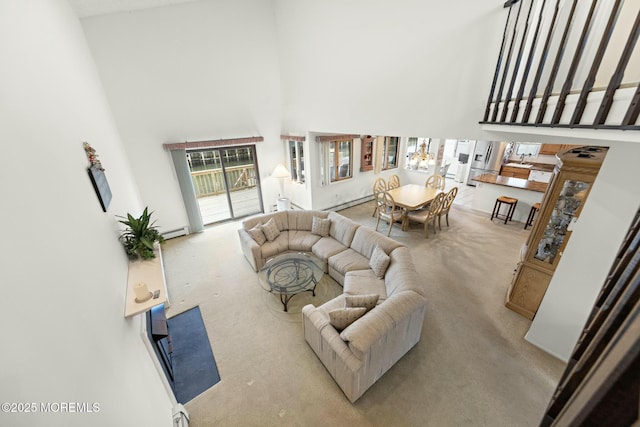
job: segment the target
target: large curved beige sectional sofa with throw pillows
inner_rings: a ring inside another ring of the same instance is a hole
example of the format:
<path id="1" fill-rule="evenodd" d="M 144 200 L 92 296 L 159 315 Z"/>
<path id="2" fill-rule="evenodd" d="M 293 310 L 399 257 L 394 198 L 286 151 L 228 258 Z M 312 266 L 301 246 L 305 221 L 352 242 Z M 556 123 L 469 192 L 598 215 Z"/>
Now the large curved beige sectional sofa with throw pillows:
<path id="1" fill-rule="evenodd" d="M 254 216 L 238 234 L 255 271 L 279 253 L 311 252 L 342 285 L 341 295 L 306 305 L 302 317 L 305 340 L 351 402 L 420 340 L 424 290 L 409 249 L 395 240 L 318 210 Z"/>

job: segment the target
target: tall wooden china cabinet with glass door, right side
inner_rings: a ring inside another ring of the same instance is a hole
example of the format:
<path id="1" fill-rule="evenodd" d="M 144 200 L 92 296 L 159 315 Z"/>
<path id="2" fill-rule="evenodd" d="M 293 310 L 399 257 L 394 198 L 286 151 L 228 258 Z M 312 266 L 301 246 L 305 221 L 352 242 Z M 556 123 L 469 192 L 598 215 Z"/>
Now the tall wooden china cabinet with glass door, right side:
<path id="1" fill-rule="evenodd" d="M 607 150 L 586 146 L 556 155 L 553 176 L 507 292 L 505 305 L 516 313 L 533 319 L 538 311 Z"/>

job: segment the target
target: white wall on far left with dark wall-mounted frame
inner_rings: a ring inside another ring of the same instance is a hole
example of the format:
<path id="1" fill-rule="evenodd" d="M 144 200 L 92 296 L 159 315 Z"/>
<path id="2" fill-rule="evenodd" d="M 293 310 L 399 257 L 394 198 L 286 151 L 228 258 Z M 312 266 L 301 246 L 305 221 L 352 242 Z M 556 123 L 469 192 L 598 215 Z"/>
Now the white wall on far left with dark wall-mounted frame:
<path id="1" fill-rule="evenodd" d="M 1 412 L 0 425 L 170 426 L 140 317 L 123 317 L 128 264 L 114 215 L 140 201 L 80 24 L 61 0 L 4 0 L 0 57 L 0 402 L 100 409 Z M 83 141 L 106 168 L 107 213 Z"/>

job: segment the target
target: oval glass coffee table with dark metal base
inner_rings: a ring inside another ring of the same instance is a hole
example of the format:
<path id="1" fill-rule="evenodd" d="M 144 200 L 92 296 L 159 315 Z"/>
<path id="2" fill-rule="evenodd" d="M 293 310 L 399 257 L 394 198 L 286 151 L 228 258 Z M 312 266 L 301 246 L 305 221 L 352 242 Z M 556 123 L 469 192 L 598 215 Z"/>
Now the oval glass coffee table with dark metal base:
<path id="1" fill-rule="evenodd" d="M 287 252 L 269 259 L 258 272 L 260 285 L 280 295 L 287 311 L 289 300 L 302 292 L 316 296 L 316 286 L 324 275 L 324 264 L 312 254 Z"/>

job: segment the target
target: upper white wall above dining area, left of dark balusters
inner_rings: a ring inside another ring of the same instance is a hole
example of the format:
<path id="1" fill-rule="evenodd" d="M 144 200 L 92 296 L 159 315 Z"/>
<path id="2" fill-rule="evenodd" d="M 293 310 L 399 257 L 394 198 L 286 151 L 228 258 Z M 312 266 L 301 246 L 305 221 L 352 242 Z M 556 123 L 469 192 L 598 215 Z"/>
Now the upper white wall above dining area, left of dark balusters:
<path id="1" fill-rule="evenodd" d="M 481 133 L 507 16 L 501 2 L 276 6 L 286 128 L 457 139 Z"/>

